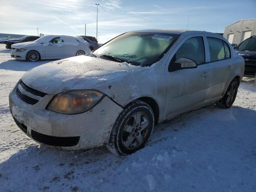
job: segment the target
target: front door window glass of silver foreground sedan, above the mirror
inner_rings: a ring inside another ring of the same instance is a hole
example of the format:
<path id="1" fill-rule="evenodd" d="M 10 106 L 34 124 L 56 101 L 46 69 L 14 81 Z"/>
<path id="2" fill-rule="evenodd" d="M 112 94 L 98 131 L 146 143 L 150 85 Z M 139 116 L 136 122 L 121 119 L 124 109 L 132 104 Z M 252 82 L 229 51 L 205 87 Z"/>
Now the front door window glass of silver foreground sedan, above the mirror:
<path id="1" fill-rule="evenodd" d="M 173 56 L 172 61 L 176 62 L 180 58 L 188 58 L 196 62 L 197 65 L 205 62 L 204 40 L 202 37 L 192 37 L 186 40 Z"/>

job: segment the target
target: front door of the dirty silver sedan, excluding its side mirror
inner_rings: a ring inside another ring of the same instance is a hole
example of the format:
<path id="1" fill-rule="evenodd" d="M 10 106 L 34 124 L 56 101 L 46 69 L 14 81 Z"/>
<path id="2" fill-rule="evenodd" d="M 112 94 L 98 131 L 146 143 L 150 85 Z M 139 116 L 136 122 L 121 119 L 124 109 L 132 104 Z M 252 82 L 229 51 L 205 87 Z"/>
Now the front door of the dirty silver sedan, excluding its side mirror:
<path id="1" fill-rule="evenodd" d="M 166 64 L 167 95 L 164 119 L 204 106 L 211 82 L 211 69 L 205 63 L 204 36 L 186 36 L 174 49 Z M 170 72 L 170 65 L 180 58 L 196 63 L 195 68 L 180 68 Z"/>

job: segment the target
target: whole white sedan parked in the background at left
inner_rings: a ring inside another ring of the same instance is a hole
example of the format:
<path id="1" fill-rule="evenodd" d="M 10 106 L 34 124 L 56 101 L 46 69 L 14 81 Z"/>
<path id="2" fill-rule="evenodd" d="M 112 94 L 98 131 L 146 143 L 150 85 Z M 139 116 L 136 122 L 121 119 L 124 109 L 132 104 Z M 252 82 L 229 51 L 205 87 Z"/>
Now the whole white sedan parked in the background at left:
<path id="1" fill-rule="evenodd" d="M 40 59 L 62 59 L 90 52 L 89 43 L 80 37 L 46 35 L 32 42 L 12 45 L 10 54 L 19 60 L 31 62 Z"/>

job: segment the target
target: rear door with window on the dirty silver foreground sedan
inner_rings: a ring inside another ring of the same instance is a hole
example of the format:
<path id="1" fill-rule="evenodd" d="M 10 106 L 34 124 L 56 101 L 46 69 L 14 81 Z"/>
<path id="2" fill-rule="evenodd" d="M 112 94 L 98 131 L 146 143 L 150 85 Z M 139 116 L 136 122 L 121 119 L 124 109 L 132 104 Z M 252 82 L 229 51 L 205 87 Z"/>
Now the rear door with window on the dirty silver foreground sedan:
<path id="1" fill-rule="evenodd" d="M 232 74 L 233 64 L 230 46 L 222 39 L 206 35 L 207 65 L 212 69 L 212 79 L 206 102 L 222 98 L 228 79 Z"/>

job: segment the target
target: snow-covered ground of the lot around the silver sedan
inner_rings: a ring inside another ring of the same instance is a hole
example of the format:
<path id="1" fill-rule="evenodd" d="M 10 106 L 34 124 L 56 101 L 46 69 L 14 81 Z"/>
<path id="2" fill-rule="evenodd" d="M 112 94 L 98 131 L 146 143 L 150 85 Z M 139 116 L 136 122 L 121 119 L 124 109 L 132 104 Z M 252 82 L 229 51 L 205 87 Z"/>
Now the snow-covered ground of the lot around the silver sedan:
<path id="1" fill-rule="evenodd" d="M 148 145 L 125 157 L 106 148 L 40 146 L 14 123 L 8 94 L 35 66 L 0 44 L 0 191 L 256 191 L 256 88 L 240 84 L 230 109 L 208 106 L 159 124 Z"/>

